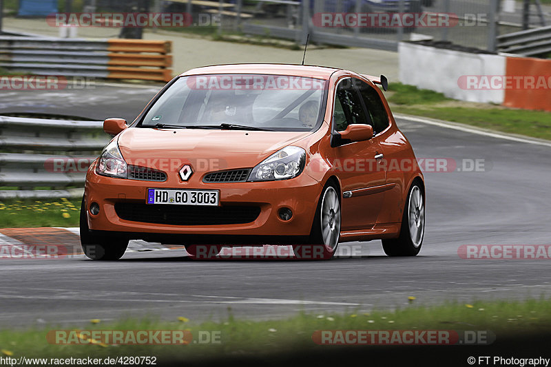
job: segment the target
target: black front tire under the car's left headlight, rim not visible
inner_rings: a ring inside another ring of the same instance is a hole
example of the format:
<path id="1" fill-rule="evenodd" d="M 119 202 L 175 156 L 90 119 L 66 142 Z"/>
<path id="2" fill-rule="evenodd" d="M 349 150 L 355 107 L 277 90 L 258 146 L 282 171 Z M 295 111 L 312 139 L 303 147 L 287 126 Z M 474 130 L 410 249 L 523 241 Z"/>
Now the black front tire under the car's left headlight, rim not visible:
<path id="1" fill-rule="evenodd" d="M 84 197 L 81 203 L 81 247 L 87 258 L 92 260 L 118 260 L 128 247 L 127 238 L 98 235 L 90 231 L 87 221 L 87 210 Z"/>

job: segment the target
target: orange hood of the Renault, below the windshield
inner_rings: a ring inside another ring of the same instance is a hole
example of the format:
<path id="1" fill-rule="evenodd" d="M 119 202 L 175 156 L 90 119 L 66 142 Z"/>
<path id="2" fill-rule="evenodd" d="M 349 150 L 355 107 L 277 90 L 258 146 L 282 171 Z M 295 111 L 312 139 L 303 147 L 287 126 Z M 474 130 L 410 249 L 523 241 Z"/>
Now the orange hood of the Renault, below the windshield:
<path id="1" fill-rule="evenodd" d="M 178 171 L 183 164 L 191 163 L 196 171 L 216 171 L 254 167 L 309 134 L 131 127 L 118 136 L 118 147 L 131 165 Z"/>

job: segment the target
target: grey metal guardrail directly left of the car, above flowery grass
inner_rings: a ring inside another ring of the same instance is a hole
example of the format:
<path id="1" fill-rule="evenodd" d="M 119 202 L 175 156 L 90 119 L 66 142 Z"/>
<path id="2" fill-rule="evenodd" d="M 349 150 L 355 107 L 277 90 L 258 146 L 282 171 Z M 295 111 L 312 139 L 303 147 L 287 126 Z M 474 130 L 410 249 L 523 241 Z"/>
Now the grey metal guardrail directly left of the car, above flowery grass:
<path id="1" fill-rule="evenodd" d="M 81 196 L 109 140 L 102 121 L 0 116 L 0 199 Z"/>

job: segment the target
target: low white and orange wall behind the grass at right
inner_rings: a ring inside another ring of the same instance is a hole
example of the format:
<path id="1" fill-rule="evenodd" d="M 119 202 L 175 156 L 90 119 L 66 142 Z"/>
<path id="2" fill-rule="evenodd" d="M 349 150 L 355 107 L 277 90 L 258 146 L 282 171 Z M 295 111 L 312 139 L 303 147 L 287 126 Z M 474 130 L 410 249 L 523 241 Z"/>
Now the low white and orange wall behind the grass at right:
<path id="1" fill-rule="evenodd" d="M 399 81 L 460 101 L 551 111 L 551 60 L 402 42 Z"/>

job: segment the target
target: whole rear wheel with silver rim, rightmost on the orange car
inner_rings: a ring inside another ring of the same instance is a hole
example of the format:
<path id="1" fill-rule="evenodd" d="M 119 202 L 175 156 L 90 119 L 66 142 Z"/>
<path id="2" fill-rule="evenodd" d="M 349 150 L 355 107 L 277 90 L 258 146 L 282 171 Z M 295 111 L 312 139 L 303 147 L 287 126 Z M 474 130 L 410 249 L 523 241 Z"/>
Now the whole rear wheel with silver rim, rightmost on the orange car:
<path id="1" fill-rule="evenodd" d="M 384 253 L 388 256 L 415 256 L 421 251 L 424 233 L 424 192 L 415 182 L 408 192 L 399 238 L 382 240 Z"/>

